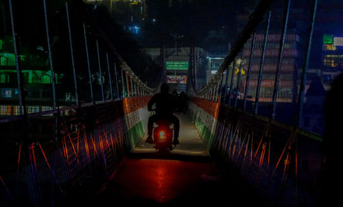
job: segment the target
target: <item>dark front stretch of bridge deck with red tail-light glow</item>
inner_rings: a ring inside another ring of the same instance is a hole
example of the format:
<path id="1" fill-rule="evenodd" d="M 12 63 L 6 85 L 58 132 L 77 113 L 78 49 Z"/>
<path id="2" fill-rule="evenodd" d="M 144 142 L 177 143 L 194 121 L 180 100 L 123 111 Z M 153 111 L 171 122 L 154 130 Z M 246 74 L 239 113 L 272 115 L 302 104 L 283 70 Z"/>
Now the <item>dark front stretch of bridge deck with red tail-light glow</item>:
<path id="1" fill-rule="evenodd" d="M 268 206 L 239 172 L 220 171 L 215 168 L 211 158 L 206 156 L 139 153 L 129 154 L 123 162 L 104 191 L 90 197 L 84 206 Z M 142 165 L 141 162 L 147 162 L 147 165 Z M 152 165 L 154 162 L 158 164 Z M 161 175 L 160 179 L 160 171 L 156 168 L 160 168 L 165 162 L 178 163 L 178 167 L 162 167 L 164 173 L 172 175 Z M 146 179 L 141 176 L 145 173 L 156 178 Z M 141 184 L 144 182 L 145 184 Z M 151 191 L 157 193 L 156 198 L 147 198 L 149 193 L 141 192 L 150 191 L 146 186 L 150 186 Z M 159 190 L 156 191 L 156 188 Z M 159 202 L 158 199 L 163 199 L 166 192 L 175 196 L 166 199 L 166 202 Z"/>

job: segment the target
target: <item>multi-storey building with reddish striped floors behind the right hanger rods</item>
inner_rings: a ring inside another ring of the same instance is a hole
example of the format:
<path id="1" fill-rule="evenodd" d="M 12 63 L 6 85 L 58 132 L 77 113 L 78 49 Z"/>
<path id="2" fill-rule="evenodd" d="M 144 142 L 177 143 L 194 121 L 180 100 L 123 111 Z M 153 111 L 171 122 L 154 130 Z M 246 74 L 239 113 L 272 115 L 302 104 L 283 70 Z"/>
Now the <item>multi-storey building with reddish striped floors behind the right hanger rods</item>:
<path id="1" fill-rule="evenodd" d="M 259 101 L 272 101 L 274 93 L 274 82 L 276 77 L 276 69 L 279 60 L 279 40 L 281 34 L 269 34 L 268 44 L 265 49 L 265 59 L 263 64 L 263 76 L 261 81 L 261 89 Z M 255 93 L 257 90 L 257 80 L 259 78 L 261 53 L 263 51 L 264 34 L 257 34 L 255 40 L 255 50 L 252 56 L 252 66 L 250 72 L 250 82 L 248 97 L 255 101 Z M 251 39 L 244 46 L 244 66 L 243 70 L 248 71 L 250 57 Z M 300 49 L 303 47 L 303 42 L 300 42 L 298 34 L 287 34 L 285 36 L 285 45 L 283 50 L 283 62 L 281 66 L 279 78 L 278 102 L 296 103 L 297 88 L 298 88 L 298 70 L 302 66 L 302 58 Z M 245 78 L 242 78 L 245 86 Z"/>

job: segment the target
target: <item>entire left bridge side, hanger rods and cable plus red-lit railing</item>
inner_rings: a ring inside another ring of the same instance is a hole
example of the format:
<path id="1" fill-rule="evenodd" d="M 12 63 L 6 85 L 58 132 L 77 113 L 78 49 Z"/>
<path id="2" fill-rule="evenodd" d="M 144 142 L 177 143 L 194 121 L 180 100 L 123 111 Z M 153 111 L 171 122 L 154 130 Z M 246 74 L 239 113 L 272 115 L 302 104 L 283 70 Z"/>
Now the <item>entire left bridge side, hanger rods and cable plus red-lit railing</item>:
<path id="1" fill-rule="evenodd" d="M 149 115 L 145 107 L 157 91 L 134 74 L 91 12 L 72 3 L 71 10 L 65 3 L 67 33 L 56 43 L 50 39 L 49 3 L 43 0 L 42 6 L 53 92 L 51 110 L 43 112 L 27 111 L 27 84 L 17 46 L 18 14 L 12 0 L 6 10 L 12 22 L 20 112 L 0 119 L 0 201 L 4 206 L 66 205 L 78 195 L 94 193 L 145 134 Z M 80 7 L 75 10 L 75 6 Z M 84 18 L 73 14 L 77 11 Z M 58 98 L 66 88 L 61 88 L 56 77 L 63 66 L 54 62 L 56 45 L 67 45 L 66 53 L 59 56 L 71 59 L 72 73 L 66 75 L 73 77 L 70 92 L 75 99 L 69 103 Z M 84 53 L 82 60 L 77 53 Z"/>

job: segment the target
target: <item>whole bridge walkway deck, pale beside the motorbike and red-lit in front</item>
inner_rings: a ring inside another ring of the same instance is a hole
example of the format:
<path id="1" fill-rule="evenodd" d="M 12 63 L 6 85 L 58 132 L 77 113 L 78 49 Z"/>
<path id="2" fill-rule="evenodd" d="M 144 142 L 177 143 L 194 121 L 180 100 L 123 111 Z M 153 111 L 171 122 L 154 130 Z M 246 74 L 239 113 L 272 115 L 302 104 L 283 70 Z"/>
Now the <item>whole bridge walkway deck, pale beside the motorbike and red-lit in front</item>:
<path id="1" fill-rule="evenodd" d="M 161 156 L 142 138 L 99 191 L 97 206 L 262 205 L 243 178 L 215 167 L 190 117 L 177 116 L 180 145 Z"/>

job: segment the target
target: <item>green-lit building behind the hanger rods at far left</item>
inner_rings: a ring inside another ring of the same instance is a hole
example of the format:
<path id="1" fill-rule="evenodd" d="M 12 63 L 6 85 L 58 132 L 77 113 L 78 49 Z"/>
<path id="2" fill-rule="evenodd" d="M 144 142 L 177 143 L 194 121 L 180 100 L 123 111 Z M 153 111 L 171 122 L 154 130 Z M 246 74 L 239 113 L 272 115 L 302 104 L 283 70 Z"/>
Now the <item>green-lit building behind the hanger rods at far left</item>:
<path id="1" fill-rule="evenodd" d="M 19 58 L 27 112 L 51 110 L 51 71 L 47 57 L 23 54 Z M 4 36 L 0 39 L 0 117 L 13 115 L 19 115 L 16 60 L 12 37 Z"/>

